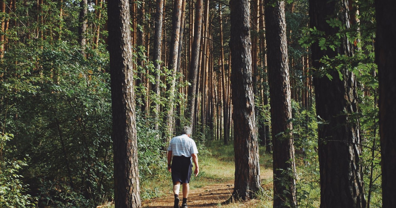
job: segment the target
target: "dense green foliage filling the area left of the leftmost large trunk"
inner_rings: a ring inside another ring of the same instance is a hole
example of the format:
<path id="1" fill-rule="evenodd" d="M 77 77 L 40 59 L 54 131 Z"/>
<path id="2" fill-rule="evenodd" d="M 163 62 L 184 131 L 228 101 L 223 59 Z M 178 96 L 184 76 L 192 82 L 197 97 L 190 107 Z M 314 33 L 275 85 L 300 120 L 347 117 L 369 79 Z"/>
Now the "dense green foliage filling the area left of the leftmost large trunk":
<path id="1" fill-rule="evenodd" d="M 76 47 L 79 6 L 64 0 L 62 17 L 60 6 L 44 1 L 37 9 L 33 1 L 17 1 L 10 20 L 21 24 L 10 26 L 0 62 L 0 124 L 14 135 L 4 142 L 10 151 L 2 170 L 18 171 L 18 178 L 2 171 L 0 180 L 14 179 L 15 188 L 4 189 L 4 196 L 18 191 L 15 201 L 27 207 L 88 207 L 112 199 L 108 53 L 99 41 L 82 57 Z M 107 19 L 94 17 L 89 12 L 89 24 L 103 26 Z"/>

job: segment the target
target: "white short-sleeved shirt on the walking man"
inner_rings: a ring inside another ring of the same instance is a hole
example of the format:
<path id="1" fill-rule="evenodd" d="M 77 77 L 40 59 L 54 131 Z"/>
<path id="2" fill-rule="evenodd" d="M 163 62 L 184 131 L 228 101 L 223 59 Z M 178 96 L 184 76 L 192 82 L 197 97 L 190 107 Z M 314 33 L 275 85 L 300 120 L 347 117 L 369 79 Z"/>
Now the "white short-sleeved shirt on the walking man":
<path id="1" fill-rule="evenodd" d="M 173 137 L 169 143 L 168 151 L 172 151 L 172 156 L 191 157 L 191 154 L 198 154 L 194 140 L 186 134 Z"/>

